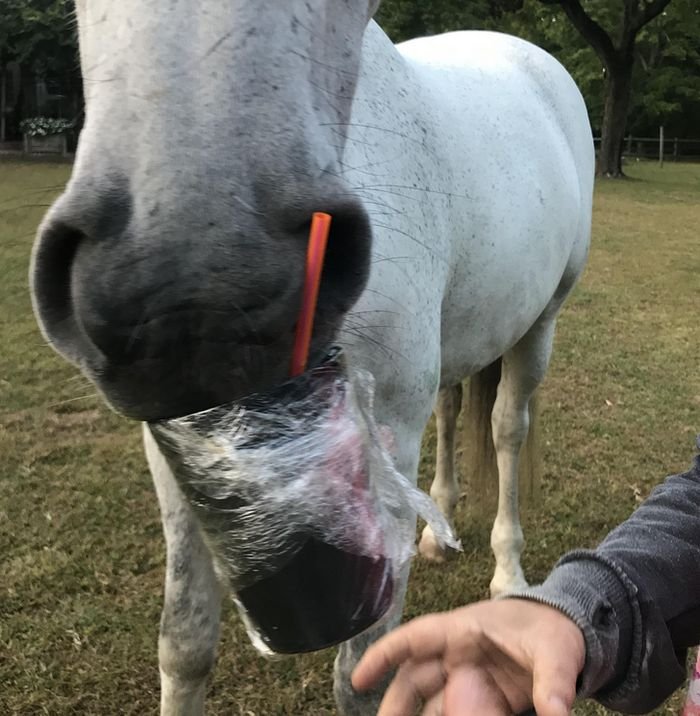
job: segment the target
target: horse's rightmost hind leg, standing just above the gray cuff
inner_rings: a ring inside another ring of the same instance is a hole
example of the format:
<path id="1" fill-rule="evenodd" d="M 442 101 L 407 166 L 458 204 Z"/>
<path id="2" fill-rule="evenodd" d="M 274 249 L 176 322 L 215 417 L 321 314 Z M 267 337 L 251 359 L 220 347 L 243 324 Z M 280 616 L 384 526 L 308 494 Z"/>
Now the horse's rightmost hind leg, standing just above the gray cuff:
<path id="1" fill-rule="evenodd" d="M 524 540 L 518 509 L 518 462 L 529 428 L 530 399 L 547 370 L 553 336 L 554 319 L 543 317 L 502 360 L 491 415 L 498 463 L 498 513 L 491 532 L 496 557 L 492 596 L 526 585 L 520 566 Z"/>

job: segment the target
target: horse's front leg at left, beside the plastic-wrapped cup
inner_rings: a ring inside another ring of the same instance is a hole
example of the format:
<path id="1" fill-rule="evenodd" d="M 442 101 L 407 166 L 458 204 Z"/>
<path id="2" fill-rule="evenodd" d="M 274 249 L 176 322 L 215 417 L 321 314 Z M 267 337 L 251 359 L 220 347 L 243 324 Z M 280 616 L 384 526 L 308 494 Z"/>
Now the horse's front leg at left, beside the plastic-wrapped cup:
<path id="1" fill-rule="evenodd" d="M 189 505 L 148 428 L 144 428 L 144 443 L 167 544 L 158 640 L 160 712 L 200 716 L 216 657 L 222 589 Z"/>

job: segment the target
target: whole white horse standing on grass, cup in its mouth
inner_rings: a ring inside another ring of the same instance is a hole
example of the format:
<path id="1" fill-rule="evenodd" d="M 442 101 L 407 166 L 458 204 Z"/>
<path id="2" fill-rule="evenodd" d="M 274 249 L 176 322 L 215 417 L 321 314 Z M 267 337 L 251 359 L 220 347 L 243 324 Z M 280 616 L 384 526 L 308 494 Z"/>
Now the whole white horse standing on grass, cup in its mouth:
<path id="1" fill-rule="evenodd" d="M 331 213 L 312 359 L 335 341 L 374 374 L 411 480 L 437 399 L 431 494 L 448 516 L 458 386 L 501 361 L 498 593 L 524 584 L 518 458 L 588 251 L 590 127 L 536 47 L 478 32 L 395 47 L 377 5 L 77 0 L 86 123 L 35 246 L 35 310 L 131 418 L 266 389 L 286 377 L 311 213 Z M 200 714 L 225 575 L 145 440 L 168 548 L 162 713 Z M 421 551 L 439 557 L 429 530 Z M 399 612 L 341 646 L 342 713 L 376 710 L 348 677 Z"/>

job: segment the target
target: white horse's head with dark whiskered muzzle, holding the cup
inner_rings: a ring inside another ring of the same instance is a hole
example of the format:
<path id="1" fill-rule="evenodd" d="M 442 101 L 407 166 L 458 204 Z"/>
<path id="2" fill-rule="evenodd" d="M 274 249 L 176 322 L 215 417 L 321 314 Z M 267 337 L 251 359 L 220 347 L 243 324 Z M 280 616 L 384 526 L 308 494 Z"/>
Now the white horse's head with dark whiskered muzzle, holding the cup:
<path id="1" fill-rule="evenodd" d="M 334 217 L 312 355 L 367 280 L 342 179 L 377 0 L 77 0 L 86 122 L 34 250 L 45 335 L 124 414 L 286 377 L 309 221 Z"/>

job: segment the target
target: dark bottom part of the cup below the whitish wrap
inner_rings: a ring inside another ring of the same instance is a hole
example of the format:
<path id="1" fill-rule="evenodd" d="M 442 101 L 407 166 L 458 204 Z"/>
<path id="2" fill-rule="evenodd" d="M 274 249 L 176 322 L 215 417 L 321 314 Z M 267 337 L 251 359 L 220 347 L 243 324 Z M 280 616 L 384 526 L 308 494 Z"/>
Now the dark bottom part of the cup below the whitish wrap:
<path id="1" fill-rule="evenodd" d="M 238 592 L 267 646 L 279 654 L 317 651 L 379 620 L 394 591 L 391 564 L 313 537 L 278 572 Z"/>

